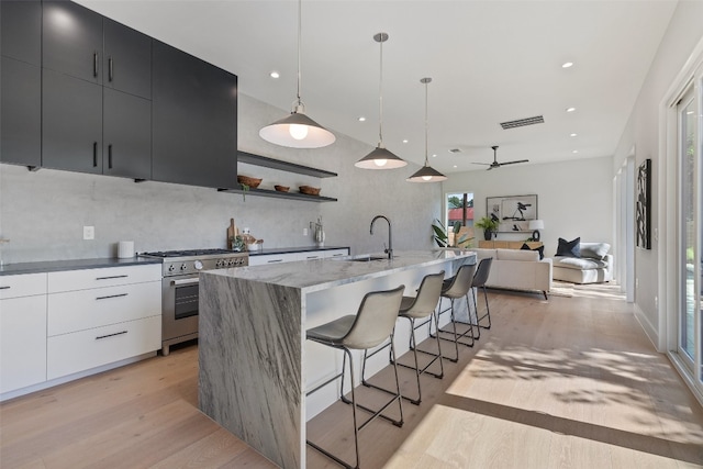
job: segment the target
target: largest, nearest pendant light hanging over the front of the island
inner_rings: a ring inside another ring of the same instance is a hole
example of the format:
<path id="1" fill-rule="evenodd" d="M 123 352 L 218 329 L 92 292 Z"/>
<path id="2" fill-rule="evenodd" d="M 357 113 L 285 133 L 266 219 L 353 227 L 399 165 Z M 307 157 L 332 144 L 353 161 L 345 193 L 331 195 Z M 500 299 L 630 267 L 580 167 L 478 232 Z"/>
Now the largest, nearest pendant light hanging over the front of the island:
<path id="1" fill-rule="evenodd" d="M 305 115 L 305 104 L 300 98 L 300 49 L 301 49 L 302 0 L 298 1 L 298 99 L 290 115 L 259 131 L 259 136 L 275 145 L 291 148 L 320 148 L 335 141 L 332 132 Z"/>

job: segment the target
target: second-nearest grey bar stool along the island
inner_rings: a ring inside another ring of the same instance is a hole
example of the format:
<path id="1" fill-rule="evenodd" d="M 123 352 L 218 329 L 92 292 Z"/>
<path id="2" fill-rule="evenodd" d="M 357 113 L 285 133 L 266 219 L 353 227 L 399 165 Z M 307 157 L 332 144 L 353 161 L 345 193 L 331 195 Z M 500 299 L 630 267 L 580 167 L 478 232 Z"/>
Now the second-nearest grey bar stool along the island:
<path id="1" fill-rule="evenodd" d="M 409 398 L 408 395 L 403 395 L 403 399 L 409 400 L 410 402 L 412 402 L 415 405 L 419 405 L 420 402 L 422 401 L 422 391 L 420 388 L 420 375 L 427 372 L 427 375 L 432 375 L 435 378 L 439 378 L 442 379 L 444 377 L 444 364 L 442 362 L 442 348 L 439 345 L 439 337 L 436 336 L 437 338 L 437 354 L 433 353 L 433 351 L 427 351 L 427 350 L 421 350 L 417 348 L 417 342 L 415 339 L 415 330 L 419 327 L 422 327 L 423 325 L 425 325 L 426 323 L 422 323 L 417 326 L 415 326 L 415 320 L 422 320 L 425 319 L 427 316 L 429 316 L 429 319 L 427 320 L 427 322 L 432 322 L 432 320 L 434 319 L 435 322 L 435 328 L 438 328 L 438 323 L 437 323 L 437 315 L 435 314 L 435 309 L 437 308 L 437 302 L 439 301 L 439 294 L 442 293 L 442 283 L 444 281 L 444 270 L 440 271 L 439 273 L 431 273 L 425 276 L 425 278 L 422 279 L 422 282 L 420 283 L 420 288 L 417 289 L 417 294 L 415 297 L 403 297 L 403 300 L 401 301 L 400 304 L 400 310 L 398 312 L 398 317 L 405 317 L 406 320 L 410 321 L 410 348 L 411 350 L 413 350 L 413 356 L 415 358 L 415 366 L 409 366 L 409 365 L 403 365 L 403 364 L 398 364 L 401 367 L 405 367 L 405 368 L 410 368 L 410 369 L 414 369 L 415 370 L 415 378 L 417 380 L 417 399 L 412 399 Z M 364 365 L 361 367 L 361 383 L 366 387 L 369 388 L 375 388 L 375 389 L 379 389 L 381 391 L 386 391 L 389 393 L 393 393 L 393 391 L 389 391 L 384 388 L 378 387 L 376 384 L 371 384 L 370 382 L 368 382 L 365 378 L 366 376 L 366 359 L 368 357 L 372 357 L 373 355 L 378 354 L 379 351 L 381 351 L 382 349 L 384 349 L 386 347 L 388 347 L 390 344 L 386 344 L 382 347 L 376 349 L 373 353 L 368 354 L 367 351 L 364 353 Z M 420 364 L 417 361 L 417 353 L 423 353 L 426 355 L 431 355 L 433 356 L 432 360 L 429 360 L 428 364 L 426 364 L 424 367 L 420 368 Z M 439 360 L 439 373 L 434 373 L 432 371 L 427 371 L 427 368 L 429 368 L 429 366 L 432 364 L 434 364 L 435 361 Z M 389 361 L 391 364 L 394 364 L 394 359 L 392 357 L 392 355 L 389 357 Z"/>

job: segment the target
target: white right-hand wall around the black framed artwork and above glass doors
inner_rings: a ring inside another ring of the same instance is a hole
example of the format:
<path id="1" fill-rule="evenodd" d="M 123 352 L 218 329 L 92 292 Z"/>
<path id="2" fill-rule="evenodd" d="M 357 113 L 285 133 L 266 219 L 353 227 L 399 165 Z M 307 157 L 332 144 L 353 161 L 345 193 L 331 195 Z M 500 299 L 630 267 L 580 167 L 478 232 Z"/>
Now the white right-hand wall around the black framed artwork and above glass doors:
<path id="1" fill-rule="evenodd" d="M 666 205 L 666 187 L 661 185 L 662 172 L 666 168 L 666 155 L 660 152 L 662 142 L 660 122 L 662 110 L 660 104 L 666 98 L 667 90 L 672 85 L 676 76 L 684 67 L 695 45 L 703 38 L 703 2 L 682 0 L 671 18 L 671 22 L 659 45 L 659 49 L 652 60 L 649 74 L 643 85 L 633 112 L 629 116 L 621 141 L 615 152 L 613 169 L 621 167 L 625 158 L 635 148 L 636 166 L 646 158 L 651 158 L 651 220 L 652 230 L 660 225 L 660 219 Z M 666 233 L 659 236 L 665 239 Z M 669 239 L 673 242 L 673 233 Z M 659 265 L 660 250 L 666 246 L 657 241 L 654 235 L 651 249 L 637 249 L 635 252 L 635 276 L 639 287 L 635 291 L 635 303 L 644 314 L 645 328 L 654 334 L 652 339 L 657 344 L 660 327 L 663 321 L 659 317 L 655 298 L 661 297 L 659 276 L 665 276 L 665 266 Z"/>

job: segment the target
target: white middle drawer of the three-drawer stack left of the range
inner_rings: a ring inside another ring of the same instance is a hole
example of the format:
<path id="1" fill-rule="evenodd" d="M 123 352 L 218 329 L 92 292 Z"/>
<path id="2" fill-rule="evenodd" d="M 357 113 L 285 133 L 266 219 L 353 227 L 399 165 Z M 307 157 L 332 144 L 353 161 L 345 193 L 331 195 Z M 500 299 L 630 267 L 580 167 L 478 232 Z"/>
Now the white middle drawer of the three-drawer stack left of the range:
<path id="1" fill-rule="evenodd" d="M 48 295 L 48 336 L 161 314 L 161 282 Z"/>

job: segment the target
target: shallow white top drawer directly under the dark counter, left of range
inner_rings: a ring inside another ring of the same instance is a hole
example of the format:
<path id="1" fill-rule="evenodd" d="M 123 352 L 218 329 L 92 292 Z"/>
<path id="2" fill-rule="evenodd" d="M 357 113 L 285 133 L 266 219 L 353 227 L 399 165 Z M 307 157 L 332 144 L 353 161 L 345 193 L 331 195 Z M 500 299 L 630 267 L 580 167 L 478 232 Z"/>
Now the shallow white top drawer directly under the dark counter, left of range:
<path id="1" fill-rule="evenodd" d="M 48 273 L 48 292 L 87 290 L 161 280 L 161 265 L 107 267 Z"/>

